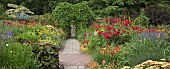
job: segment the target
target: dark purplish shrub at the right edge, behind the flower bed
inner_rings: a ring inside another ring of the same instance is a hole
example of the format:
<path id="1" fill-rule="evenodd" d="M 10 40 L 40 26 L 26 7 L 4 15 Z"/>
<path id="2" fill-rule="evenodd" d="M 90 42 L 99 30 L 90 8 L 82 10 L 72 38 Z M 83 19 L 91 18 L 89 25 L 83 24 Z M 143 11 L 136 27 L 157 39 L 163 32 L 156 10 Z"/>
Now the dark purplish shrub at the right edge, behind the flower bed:
<path id="1" fill-rule="evenodd" d="M 166 4 L 151 5 L 145 8 L 145 14 L 150 19 L 150 24 L 169 24 L 170 8 Z"/>

